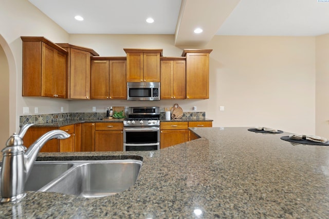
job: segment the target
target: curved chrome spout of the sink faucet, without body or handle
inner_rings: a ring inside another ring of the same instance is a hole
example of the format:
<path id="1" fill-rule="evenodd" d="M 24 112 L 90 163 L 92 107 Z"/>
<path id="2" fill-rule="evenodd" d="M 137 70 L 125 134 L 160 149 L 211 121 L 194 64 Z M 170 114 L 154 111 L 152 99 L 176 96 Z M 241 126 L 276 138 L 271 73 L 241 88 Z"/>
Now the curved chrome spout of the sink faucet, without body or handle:
<path id="1" fill-rule="evenodd" d="M 26 170 L 25 180 L 27 180 L 27 178 L 29 177 L 33 164 L 34 164 L 36 157 L 38 156 L 38 153 L 41 150 L 41 148 L 49 140 L 51 140 L 53 138 L 64 139 L 64 138 L 68 138 L 69 136 L 70 136 L 70 134 L 68 134 L 65 131 L 52 130 L 52 131 L 49 131 L 49 132 L 45 133 L 44 135 L 42 135 L 41 137 L 38 138 L 38 140 L 36 140 L 33 144 L 31 144 L 24 155 L 25 170 Z"/>

